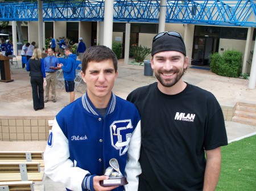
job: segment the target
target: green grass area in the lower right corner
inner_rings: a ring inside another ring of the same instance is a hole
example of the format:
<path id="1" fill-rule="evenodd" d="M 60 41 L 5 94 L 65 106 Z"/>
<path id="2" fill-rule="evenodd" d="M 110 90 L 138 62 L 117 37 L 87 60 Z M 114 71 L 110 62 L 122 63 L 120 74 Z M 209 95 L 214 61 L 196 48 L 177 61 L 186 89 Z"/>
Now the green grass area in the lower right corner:
<path id="1" fill-rule="evenodd" d="M 221 155 L 216 190 L 256 190 L 256 135 L 222 147 Z"/>

